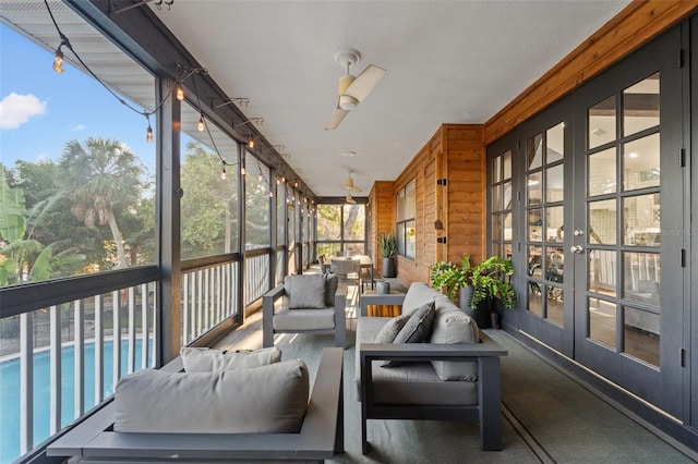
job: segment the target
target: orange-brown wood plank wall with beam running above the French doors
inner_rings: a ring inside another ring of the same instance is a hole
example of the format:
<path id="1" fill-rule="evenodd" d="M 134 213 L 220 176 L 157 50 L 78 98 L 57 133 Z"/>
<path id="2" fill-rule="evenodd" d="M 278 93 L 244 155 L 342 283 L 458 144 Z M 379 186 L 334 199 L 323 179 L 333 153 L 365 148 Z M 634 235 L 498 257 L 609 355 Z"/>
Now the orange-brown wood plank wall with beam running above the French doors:
<path id="1" fill-rule="evenodd" d="M 426 281 L 429 266 L 464 254 L 480 261 L 486 233 L 486 145 L 696 11 L 698 0 L 633 1 L 485 124 L 442 125 L 395 183 L 376 182 L 370 197 L 377 224 L 373 241 L 380 232 L 395 231 L 396 192 L 411 179 L 417 184 L 416 259 L 398 258 L 398 279 L 406 285 Z M 448 186 L 440 190 L 436 180 L 443 178 Z M 441 231 L 434 227 L 437 219 Z M 437 236 L 446 236 L 446 244 L 436 244 Z M 375 253 L 374 262 L 380 262 Z"/>

